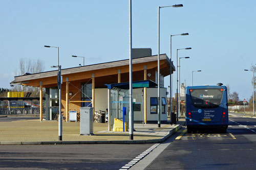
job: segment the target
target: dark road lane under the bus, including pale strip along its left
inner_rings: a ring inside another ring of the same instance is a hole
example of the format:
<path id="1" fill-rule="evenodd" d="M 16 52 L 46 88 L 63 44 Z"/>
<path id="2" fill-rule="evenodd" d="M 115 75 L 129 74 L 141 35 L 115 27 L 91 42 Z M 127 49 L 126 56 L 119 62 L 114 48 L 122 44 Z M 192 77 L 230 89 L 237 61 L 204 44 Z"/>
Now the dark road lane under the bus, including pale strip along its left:
<path id="1" fill-rule="evenodd" d="M 256 119 L 229 119 L 226 134 L 186 133 L 182 128 L 180 136 L 161 144 L 166 148 L 153 161 L 151 154 L 157 149 L 131 169 L 255 169 Z"/>

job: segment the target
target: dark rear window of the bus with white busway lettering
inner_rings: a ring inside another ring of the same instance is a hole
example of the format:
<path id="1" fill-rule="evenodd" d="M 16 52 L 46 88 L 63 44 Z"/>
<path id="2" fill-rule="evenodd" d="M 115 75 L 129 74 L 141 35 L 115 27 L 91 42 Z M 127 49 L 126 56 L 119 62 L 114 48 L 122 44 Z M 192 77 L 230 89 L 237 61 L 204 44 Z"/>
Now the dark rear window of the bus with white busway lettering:
<path id="1" fill-rule="evenodd" d="M 220 106 L 223 96 L 223 88 L 190 89 L 189 92 L 193 105 L 200 108 Z"/>

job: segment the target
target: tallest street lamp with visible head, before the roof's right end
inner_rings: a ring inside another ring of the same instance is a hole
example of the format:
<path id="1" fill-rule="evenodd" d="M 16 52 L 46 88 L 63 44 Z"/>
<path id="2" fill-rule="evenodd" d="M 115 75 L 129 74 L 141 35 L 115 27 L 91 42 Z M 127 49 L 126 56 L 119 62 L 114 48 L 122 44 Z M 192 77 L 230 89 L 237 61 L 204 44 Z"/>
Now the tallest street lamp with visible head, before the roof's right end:
<path id="1" fill-rule="evenodd" d="M 172 5 L 172 6 L 164 6 L 164 7 L 159 7 L 158 6 L 158 56 L 157 56 L 157 87 L 158 87 L 158 92 L 157 92 L 157 123 L 158 123 L 158 128 L 161 127 L 161 114 L 160 114 L 160 9 L 161 8 L 166 8 L 166 7 L 173 7 L 173 8 L 178 8 L 178 7 L 183 7 L 182 4 L 179 5 Z M 171 64 L 172 65 L 172 64 Z M 171 68 L 172 69 L 172 68 Z M 171 70 L 172 72 L 172 70 Z"/>

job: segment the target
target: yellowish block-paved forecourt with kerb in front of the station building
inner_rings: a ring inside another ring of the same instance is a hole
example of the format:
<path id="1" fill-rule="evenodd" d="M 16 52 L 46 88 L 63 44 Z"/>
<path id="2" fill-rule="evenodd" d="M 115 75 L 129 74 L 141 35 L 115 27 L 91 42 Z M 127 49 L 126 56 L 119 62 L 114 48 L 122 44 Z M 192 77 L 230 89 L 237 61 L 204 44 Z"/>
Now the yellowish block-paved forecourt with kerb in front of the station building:
<path id="1" fill-rule="evenodd" d="M 1 118 L 1 117 L 0 117 Z M 78 143 L 159 143 L 166 140 L 184 125 L 184 118 L 177 125 L 134 124 L 134 140 L 129 132 L 108 131 L 108 124 L 94 123 L 94 135 L 80 135 L 80 123 L 63 122 L 62 141 L 58 140 L 58 122 L 17 120 L 1 122 L 0 144 L 78 144 Z"/>

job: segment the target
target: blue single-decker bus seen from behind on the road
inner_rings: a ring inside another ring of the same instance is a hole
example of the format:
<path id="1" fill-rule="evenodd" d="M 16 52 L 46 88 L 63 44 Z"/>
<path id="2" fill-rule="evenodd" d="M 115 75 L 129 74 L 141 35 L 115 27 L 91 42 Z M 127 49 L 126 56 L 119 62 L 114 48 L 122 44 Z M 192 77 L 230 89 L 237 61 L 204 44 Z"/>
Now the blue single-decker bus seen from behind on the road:
<path id="1" fill-rule="evenodd" d="M 186 87 L 186 127 L 191 133 L 202 129 L 220 129 L 226 133 L 228 127 L 227 87 Z"/>

